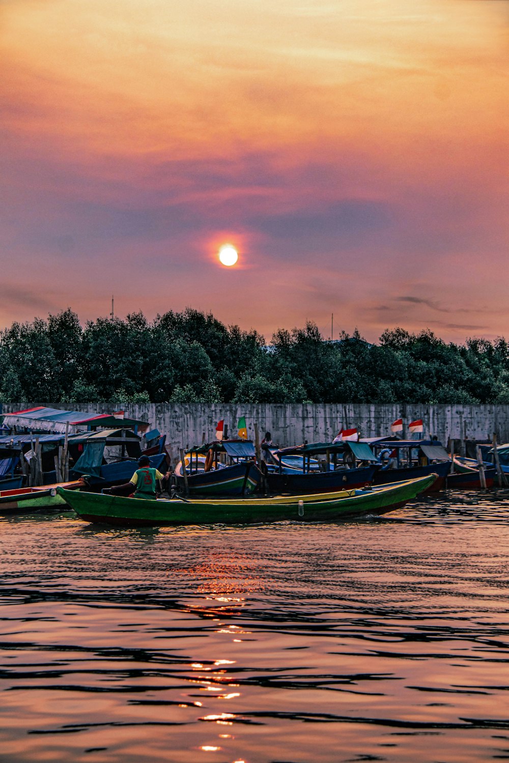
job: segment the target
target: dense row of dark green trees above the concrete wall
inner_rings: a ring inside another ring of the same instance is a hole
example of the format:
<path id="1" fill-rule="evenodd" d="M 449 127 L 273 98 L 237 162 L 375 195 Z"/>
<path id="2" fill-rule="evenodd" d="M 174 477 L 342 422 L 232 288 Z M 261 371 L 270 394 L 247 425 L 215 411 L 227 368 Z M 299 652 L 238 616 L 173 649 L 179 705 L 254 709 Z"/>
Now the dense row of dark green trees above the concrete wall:
<path id="1" fill-rule="evenodd" d="M 446 343 L 426 329 L 357 331 L 334 343 L 317 326 L 224 326 L 186 308 L 152 322 L 98 318 L 85 327 L 68 309 L 0 333 L 4 402 L 509 403 L 509 346 Z"/>

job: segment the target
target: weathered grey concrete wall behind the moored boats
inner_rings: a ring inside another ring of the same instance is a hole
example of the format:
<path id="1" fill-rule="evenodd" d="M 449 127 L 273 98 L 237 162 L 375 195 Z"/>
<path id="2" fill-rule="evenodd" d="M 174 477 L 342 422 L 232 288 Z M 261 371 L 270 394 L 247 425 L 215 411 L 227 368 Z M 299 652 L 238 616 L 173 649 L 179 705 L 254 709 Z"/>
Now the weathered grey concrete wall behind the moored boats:
<path id="1" fill-rule="evenodd" d="M 47 405 L 54 408 L 111 413 L 111 404 L 4 403 L 3 413 Z M 224 419 L 231 434 L 237 433 L 237 420 L 246 417 L 248 433 L 254 437 L 258 424 L 260 437 L 266 430 L 280 446 L 333 439 L 341 427 L 357 427 L 362 437 L 390 432 L 391 423 L 402 418 L 404 424 L 414 419 L 424 422 L 424 435 L 437 435 L 444 444 L 449 437 L 491 439 L 497 433 L 499 443 L 509 442 L 509 405 L 369 405 L 369 404 L 120 404 L 126 416 L 150 422 L 166 433 L 172 457 L 179 448 L 214 439 L 217 421 Z M 404 435 L 407 431 L 404 431 Z"/>

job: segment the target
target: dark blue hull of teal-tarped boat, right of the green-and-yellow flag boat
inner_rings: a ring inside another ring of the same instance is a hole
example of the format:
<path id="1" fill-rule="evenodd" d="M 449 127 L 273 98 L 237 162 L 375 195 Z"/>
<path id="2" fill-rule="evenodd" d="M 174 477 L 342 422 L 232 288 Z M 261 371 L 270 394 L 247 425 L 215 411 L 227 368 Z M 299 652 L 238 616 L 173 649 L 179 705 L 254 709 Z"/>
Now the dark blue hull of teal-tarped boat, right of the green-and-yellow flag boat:
<path id="1" fill-rule="evenodd" d="M 307 493 L 329 493 L 330 491 L 363 488 L 373 481 L 378 466 L 366 466 L 356 469 L 338 469 L 335 472 L 269 472 L 267 485 L 271 493 L 290 493 L 300 495 Z M 396 476 L 398 479 L 409 479 Z"/>

